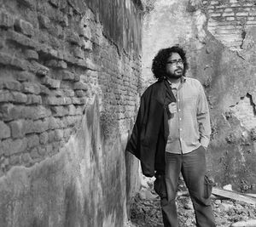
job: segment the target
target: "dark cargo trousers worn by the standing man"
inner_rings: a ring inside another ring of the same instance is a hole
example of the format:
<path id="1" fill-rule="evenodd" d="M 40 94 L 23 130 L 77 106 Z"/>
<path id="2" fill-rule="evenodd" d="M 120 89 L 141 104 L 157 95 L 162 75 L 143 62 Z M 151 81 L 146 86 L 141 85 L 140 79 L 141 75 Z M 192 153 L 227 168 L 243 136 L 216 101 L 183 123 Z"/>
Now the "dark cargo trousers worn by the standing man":
<path id="1" fill-rule="evenodd" d="M 155 174 L 154 190 L 160 196 L 165 227 L 178 227 L 176 194 L 179 174 L 189 190 L 198 227 L 215 227 L 211 206 L 212 183 L 207 178 L 206 150 L 200 146 L 187 154 L 166 152 L 165 174 Z"/>

